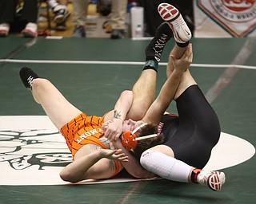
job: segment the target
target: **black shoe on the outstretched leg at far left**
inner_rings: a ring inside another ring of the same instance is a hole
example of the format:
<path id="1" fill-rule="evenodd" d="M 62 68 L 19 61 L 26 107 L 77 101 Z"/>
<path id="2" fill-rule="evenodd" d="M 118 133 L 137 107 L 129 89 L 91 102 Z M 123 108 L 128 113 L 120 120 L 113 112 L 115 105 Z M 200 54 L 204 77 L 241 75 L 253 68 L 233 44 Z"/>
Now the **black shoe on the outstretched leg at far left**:
<path id="1" fill-rule="evenodd" d="M 19 71 L 19 76 L 22 79 L 23 84 L 28 88 L 29 90 L 32 90 L 32 84 L 34 79 L 38 78 L 38 74 L 34 73 L 34 71 L 30 68 L 23 67 Z"/>

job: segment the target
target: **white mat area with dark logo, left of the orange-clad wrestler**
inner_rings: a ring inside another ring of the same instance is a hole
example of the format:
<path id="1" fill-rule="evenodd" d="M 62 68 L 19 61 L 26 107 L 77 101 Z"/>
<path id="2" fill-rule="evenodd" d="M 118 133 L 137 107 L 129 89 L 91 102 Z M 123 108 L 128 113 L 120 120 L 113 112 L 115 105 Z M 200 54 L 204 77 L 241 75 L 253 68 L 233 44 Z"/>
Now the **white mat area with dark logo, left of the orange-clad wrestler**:
<path id="1" fill-rule="evenodd" d="M 47 116 L 0 116 L 0 185 L 66 183 L 59 172 L 71 157 Z"/>

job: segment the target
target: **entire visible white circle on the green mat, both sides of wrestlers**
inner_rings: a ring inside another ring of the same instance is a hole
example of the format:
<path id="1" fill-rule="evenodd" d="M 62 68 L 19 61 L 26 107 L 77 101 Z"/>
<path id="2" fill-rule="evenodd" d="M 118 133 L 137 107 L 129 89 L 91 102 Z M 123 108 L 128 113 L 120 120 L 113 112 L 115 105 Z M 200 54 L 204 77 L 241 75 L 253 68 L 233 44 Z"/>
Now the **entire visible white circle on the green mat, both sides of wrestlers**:
<path id="1" fill-rule="evenodd" d="M 222 132 L 205 169 L 232 167 L 254 153 L 251 143 Z M 0 185 L 69 184 L 60 179 L 59 172 L 70 162 L 65 139 L 47 116 L 0 116 Z M 113 179 L 90 179 L 79 184 L 132 181 L 139 179 L 121 174 Z"/>

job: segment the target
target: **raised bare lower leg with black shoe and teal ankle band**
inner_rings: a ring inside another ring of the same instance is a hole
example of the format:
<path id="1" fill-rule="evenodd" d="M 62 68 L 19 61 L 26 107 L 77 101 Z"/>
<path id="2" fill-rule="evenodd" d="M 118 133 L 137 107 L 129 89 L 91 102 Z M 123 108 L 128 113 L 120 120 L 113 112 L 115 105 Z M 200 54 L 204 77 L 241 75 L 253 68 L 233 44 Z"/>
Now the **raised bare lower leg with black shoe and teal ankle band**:
<path id="1" fill-rule="evenodd" d="M 154 101 L 155 84 L 157 80 L 158 62 L 167 41 L 173 36 L 170 26 L 166 22 L 158 26 L 154 38 L 145 49 L 146 62 L 141 76 L 134 84 L 134 100 L 127 119 L 141 120 L 147 109 Z"/>

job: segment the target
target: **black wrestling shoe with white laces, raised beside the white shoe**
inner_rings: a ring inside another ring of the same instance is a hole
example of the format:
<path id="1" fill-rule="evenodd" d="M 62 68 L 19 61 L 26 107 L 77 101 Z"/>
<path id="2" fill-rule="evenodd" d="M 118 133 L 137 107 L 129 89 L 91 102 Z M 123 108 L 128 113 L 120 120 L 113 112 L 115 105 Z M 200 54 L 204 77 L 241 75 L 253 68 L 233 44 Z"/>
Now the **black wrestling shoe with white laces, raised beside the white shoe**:
<path id="1" fill-rule="evenodd" d="M 170 26 L 163 22 L 156 30 L 154 38 L 150 41 L 145 49 L 146 61 L 160 61 L 162 51 L 171 37 L 173 37 L 173 32 Z"/>

